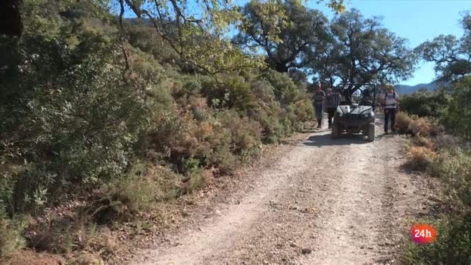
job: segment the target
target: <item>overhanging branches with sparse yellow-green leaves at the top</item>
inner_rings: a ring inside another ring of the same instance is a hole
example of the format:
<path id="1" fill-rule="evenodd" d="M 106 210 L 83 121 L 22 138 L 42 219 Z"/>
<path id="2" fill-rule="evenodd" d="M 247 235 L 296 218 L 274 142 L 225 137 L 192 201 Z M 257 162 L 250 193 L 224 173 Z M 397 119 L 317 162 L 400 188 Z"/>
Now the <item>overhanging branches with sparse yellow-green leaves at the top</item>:
<path id="1" fill-rule="evenodd" d="M 148 18 L 161 38 L 179 54 L 183 64 L 207 75 L 260 67 L 257 54 L 247 55 L 227 38 L 230 25 L 238 25 L 241 13 L 231 0 L 118 0 L 120 17 L 126 4 L 137 17 Z M 294 0 L 300 5 L 300 0 Z M 324 0 L 322 0 L 324 1 Z M 343 10 L 343 0 L 328 0 L 334 10 Z M 259 4 L 263 17 L 284 20 L 284 10 L 278 0 Z M 155 11 L 152 11 L 155 10 Z M 280 31 L 273 24 L 268 38 L 275 39 Z"/>

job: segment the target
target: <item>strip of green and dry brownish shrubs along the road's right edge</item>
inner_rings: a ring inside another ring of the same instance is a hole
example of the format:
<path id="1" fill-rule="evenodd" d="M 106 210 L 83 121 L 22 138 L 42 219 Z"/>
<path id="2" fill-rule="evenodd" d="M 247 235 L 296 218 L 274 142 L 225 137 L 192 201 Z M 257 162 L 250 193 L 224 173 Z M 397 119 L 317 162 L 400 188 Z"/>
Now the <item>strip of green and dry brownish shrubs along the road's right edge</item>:
<path id="1" fill-rule="evenodd" d="M 470 79 L 463 79 L 456 83 L 447 108 L 438 116 L 437 113 L 425 115 L 434 116 L 432 119 L 402 112 L 397 116 L 399 131 L 413 135 L 414 146 L 407 154 L 409 166 L 439 178 L 449 203 L 454 206 L 453 212 L 436 222 L 438 238 L 433 244 L 416 246 L 410 243 L 406 246 L 405 258 L 410 264 L 471 262 L 471 154 L 467 142 L 470 139 L 467 126 L 471 120 L 467 103 L 469 82 Z"/>

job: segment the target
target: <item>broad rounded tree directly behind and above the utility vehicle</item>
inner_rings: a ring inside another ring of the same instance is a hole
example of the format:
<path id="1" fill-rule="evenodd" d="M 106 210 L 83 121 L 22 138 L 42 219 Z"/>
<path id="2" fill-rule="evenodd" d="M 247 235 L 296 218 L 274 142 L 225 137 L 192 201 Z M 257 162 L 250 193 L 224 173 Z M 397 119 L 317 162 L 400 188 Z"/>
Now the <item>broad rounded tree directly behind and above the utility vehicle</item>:
<path id="1" fill-rule="evenodd" d="M 415 56 L 406 39 L 382 27 L 379 17 L 365 18 L 357 9 L 341 14 L 330 25 L 332 41 L 311 64 L 314 74 L 333 83 L 394 83 L 414 71 Z M 350 85 L 353 94 L 359 85 Z"/>

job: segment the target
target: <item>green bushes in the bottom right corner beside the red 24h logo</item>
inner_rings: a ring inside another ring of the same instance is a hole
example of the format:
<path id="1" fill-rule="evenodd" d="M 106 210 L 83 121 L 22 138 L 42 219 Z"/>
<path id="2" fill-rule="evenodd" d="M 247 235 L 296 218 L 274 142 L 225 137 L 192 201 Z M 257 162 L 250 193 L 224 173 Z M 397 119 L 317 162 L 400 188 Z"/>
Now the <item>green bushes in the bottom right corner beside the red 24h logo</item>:
<path id="1" fill-rule="evenodd" d="M 449 138 L 449 137 L 448 137 Z M 409 264 L 470 264 L 471 262 L 471 156 L 455 139 L 429 161 L 427 170 L 439 178 L 454 211 L 437 222 L 437 239 L 429 245 L 406 245 Z M 437 141 L 437 142 L 439 142 Z"/>

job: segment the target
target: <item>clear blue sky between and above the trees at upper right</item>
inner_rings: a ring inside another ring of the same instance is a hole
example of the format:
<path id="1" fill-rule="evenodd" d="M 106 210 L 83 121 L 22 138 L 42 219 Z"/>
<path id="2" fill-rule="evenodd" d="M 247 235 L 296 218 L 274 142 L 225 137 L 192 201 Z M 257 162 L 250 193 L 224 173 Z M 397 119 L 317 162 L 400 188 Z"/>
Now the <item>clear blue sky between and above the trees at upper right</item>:
<path id="1" fill-rule="evenodd" d="M 309 8 L 322 10 L 331 18 L 333 13 L 324 4 L 310 0 Z M 432 40 L 439 34 L 461 37 L 460 13 L 471 10 L 471 0 L 346 0 L 347 8 L 357 8 L 365 17 L 382 16 L 383 25 L 409 40 L 410 47 Z M 414 77 L 402 84 L 430 83 L 435 77 L 432 63 L 421 62 Z"/>

